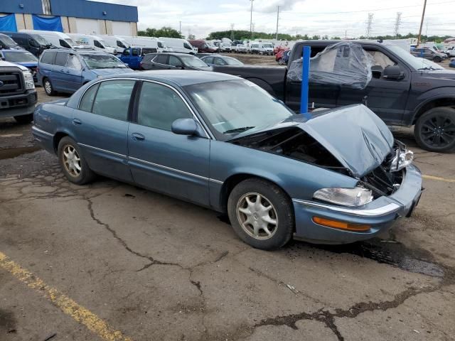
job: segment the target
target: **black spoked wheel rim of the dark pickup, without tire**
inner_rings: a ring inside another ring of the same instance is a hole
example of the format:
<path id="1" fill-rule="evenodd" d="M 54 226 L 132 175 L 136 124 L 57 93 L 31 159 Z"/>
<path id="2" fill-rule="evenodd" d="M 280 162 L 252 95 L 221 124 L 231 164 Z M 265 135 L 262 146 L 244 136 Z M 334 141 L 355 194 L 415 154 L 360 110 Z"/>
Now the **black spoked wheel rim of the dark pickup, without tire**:
<path id="1" fill-rule="evenodd" d="M 422 139 L 429 146 L 448 146 L 455 140 L 455 122 L 446 116 L 430 117 L 422 124 Z"/>

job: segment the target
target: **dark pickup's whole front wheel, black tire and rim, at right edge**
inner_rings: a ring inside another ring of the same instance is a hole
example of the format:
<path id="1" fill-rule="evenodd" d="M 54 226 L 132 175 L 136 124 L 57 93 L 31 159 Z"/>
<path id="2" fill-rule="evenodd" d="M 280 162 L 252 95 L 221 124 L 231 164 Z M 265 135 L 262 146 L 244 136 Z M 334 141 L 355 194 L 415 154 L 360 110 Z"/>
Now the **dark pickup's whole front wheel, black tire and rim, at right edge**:
<path id="1" fill-rule="evenodd" d="M 414 137 L 426 151 L 451 151 L 455 147 L 455 109 L 429 109 L 417 119 Z"/>

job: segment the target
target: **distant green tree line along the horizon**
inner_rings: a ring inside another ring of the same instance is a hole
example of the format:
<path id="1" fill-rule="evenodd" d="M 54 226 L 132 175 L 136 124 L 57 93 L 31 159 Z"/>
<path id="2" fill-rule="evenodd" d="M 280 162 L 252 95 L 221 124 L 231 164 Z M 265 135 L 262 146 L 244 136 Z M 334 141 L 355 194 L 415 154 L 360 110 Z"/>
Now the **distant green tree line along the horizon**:
<path id="1" fill-rule="evenodd" d="M 161 28 L 147 28 L 145 31 L 137 31 L 138 36 L 149 36 L 149 37 L 168 37 L 168 38 L 184 38 L 184 36 L 181 35 L 177 30 L 174 30 L 171 27 L 164 26 Z M 266 33 L 266 32 L 254 32 L 253 33 L 253 38 L 254 39 L 274 39 L 275 38 L 275 33 Z M 447 38 L 450 38 L 451 36 L 427 36 L 423 35 L 421 37 L 422 41 L 435 41 L 436 43 L 441 43 Z M 194 39 L 195 37 L 191 35 L 191 37 L 187 37 L 188 39 Z M 220 40 L 221 38 L 230 38 L 231 40 L 249 40 L 251 39 L 251 33 L 250 31 L 245 31 L 245 30 L 228 30 L 228 31 L 216 31 L 212 32 L 208 35 L 206 38 L 207 40 Z M 359 36 L 357 37 L 358 39 L 366 39 L 367 37 L 365 36 Z M 408 33 L 407 35 L 397 35 L 397 36 L 392 36 L 392 35 L 384 35 L 384 36 L 374 36 L 370 37 L 369 39 L 373 40 L 388 40 L 388 39 L 405 39 L 405 38 L 417 38 L 416 33 Z M 333 40 L 340 40 L 341 37 L 338 36 L 320 36 L 318 34 L 315 34 L 313 36 L 309 36 L 308 34 L 296 34 L 295 36 L 292 36 L 291 34 L 285 34 L 285 33 L 278 33 L 278 40 L 327 40 L 327 39 L 333 39 Z"/>

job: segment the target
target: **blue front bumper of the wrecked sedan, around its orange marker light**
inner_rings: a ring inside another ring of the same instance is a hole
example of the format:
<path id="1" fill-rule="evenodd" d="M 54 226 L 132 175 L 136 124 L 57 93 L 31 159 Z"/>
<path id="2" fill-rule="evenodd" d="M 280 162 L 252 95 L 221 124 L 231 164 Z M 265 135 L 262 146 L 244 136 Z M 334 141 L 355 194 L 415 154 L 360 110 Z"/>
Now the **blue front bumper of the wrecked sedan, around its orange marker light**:
<path id="1" fill-rule="evenodd" d="M 419 168 L 405 168 L 400 188 L 389 197 L 379 197 L 362 207 L 343 207 L 325 202 L 293 199 L 296 232 L 295 239 L 319 244 L 347 244 L 370 239 L 388 229 L 398 217 L 409 217 L 422 194 L 422 175 Z M 365 232 L 354 232 L 316 224 L 313 217 L 328 220 L 367 224 Z"/>

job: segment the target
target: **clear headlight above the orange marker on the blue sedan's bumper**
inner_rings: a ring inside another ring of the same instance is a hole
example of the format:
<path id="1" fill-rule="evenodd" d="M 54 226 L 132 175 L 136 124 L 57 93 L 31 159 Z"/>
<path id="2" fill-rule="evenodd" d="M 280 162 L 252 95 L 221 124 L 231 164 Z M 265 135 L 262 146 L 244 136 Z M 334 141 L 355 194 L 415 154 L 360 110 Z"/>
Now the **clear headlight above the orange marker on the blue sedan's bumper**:
<path id="1" fill-rule="evenodd" d="M 315 199 L 332 202 L 333 204 L 357 207 L 373 201 L 373 193 L 363 187 L 355 188 L 321 188 L 316 190 Z"/>

